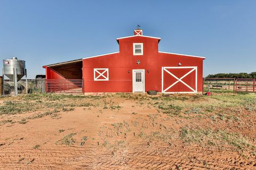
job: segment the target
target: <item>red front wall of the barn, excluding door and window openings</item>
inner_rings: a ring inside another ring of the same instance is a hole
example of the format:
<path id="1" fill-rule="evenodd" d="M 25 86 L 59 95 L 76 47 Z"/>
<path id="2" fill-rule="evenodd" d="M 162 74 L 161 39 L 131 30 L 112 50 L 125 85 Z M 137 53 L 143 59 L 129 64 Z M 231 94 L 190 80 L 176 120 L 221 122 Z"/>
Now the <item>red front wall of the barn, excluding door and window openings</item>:
<path id="1" fill-rule="evenodd" d="M 133 43 L 143 43 L 143 55 L 133 55 Z M 141 62 L 139 65 L 137 60 Z M 162 67 L 178 66 L 179 63 L 197 66 L 197 91 L 202 91 L 203 58 L 158 53 L 158 39 L 155 38 L 119 39 L 119 53 L 83 60 L 84 92 L 132 92 L 133 69 L 145 69 L 145 91 L 161 92 Z M 93 69 L 96 68 L 108 68 L 109 81 L 94 81 Z"/>

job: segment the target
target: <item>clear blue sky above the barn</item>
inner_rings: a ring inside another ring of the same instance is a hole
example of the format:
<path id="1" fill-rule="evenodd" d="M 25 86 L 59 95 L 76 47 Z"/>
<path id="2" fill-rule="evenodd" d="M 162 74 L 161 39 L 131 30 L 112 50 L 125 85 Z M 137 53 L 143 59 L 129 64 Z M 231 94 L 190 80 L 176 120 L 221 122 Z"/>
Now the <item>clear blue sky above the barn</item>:
<path id="1" fill-rule="evenodd" d="M 137 24 L 162 38 L 160 51 L 206 56 L 204 76 L 256 71 L 255 0 L 0 0 L 0 59 L 25 60 L 34 78 L 43 65 L 117 52 Z"/>

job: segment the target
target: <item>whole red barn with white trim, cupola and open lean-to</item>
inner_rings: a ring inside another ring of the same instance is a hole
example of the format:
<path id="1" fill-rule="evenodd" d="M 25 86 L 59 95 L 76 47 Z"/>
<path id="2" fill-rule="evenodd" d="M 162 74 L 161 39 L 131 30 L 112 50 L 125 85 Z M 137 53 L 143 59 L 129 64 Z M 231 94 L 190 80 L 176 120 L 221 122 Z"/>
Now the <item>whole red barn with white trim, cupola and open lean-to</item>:
<path id="1" fill-rule="evenodd" d="M 202 92 L 205 57 L 158 51 L 161 38 L 117 38 L 119 52 L 45 65 L 46 90 L 83 92 Z"/>

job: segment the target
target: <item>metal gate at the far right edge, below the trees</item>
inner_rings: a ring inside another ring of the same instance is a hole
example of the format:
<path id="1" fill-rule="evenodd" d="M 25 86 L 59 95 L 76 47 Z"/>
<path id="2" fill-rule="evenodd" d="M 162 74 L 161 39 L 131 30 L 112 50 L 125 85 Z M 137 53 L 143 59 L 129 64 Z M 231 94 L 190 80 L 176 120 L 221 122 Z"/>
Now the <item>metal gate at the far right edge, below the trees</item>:
<path id="1" fill-rule="evenodd" d="M 236 91 L 256 92 L 255 91 L 256 79 L 236 79 Z"/>

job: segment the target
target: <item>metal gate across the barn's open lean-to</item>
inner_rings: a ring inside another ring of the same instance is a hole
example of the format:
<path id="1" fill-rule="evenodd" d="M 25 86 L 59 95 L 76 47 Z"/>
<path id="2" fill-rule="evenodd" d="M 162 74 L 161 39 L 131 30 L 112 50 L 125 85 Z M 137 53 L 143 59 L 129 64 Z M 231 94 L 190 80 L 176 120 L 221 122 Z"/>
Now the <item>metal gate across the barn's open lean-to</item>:
<path id="1" fill-rule="evenodd" d="M 46 92 L 83 93 L 82 79 L 47 79 Z"/>

